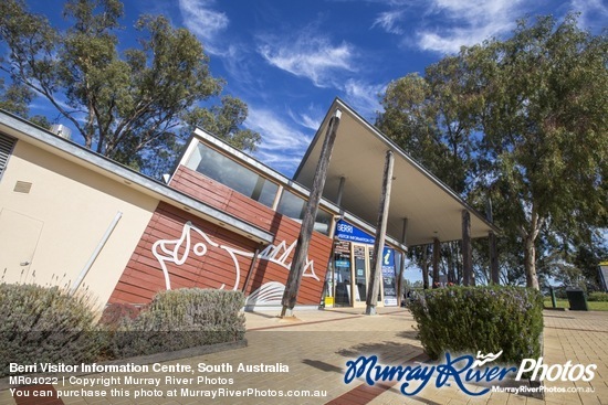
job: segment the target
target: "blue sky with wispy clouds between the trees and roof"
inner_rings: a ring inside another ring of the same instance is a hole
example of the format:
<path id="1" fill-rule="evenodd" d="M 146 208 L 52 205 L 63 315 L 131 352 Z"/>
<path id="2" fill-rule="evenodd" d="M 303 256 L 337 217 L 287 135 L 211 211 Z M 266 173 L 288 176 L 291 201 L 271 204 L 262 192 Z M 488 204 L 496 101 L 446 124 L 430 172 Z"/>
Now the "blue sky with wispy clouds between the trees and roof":
<path id="1" fill-rule="evenodd" d="M 63 1 L 27 2 L 61 21 Z M 199 38 L 224 93 L 249 105 L 245 126 L 262 135 L 254 156 L 290 177 L 336 96 L 374 122 L 390 81 L 505 38 L 520 18 L 578 11 L 593 33 L 608 25 L 601 0 L 127 0 L 125 11 L 122 45 L 141 13 L 165 14 Z"/>

